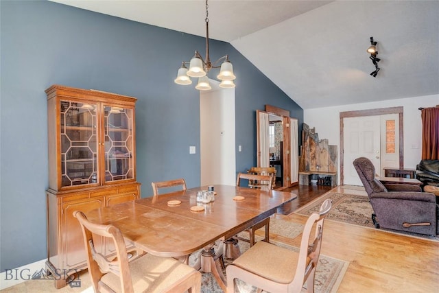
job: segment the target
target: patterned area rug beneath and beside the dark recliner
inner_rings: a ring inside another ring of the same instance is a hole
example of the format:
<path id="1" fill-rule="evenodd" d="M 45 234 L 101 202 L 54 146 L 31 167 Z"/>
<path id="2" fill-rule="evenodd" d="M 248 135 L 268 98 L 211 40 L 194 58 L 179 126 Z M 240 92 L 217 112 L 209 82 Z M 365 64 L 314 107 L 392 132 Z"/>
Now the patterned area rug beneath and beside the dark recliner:
<path id="1" fill-rule="evenodd" d="M 375 229 L 371 217 L 373 209 L 370 205 L 369 198 L 366 195 L 361 196 L 355 194 L 329 193 L 321 196 L 313 202 L 310 202 L 309 204 L 305 205 L 305 207 L 296 210 L 294 213 L 307 216 L 311 215 L 311 213 L 317 213 L 320 209 L 320 205 L 327 198 L 331 198 L 333 201 L 332 209 L 327 215 L 327 220 L 333 220 L 337 222 L 354 224 L 366 228 Z M 385 228 L 380 228 L 379 231 L 439 241 L 439 237 L 435 236 L 421 235 L 410 232 L 405 233 L 403 231 L 395 231 Z"/>

